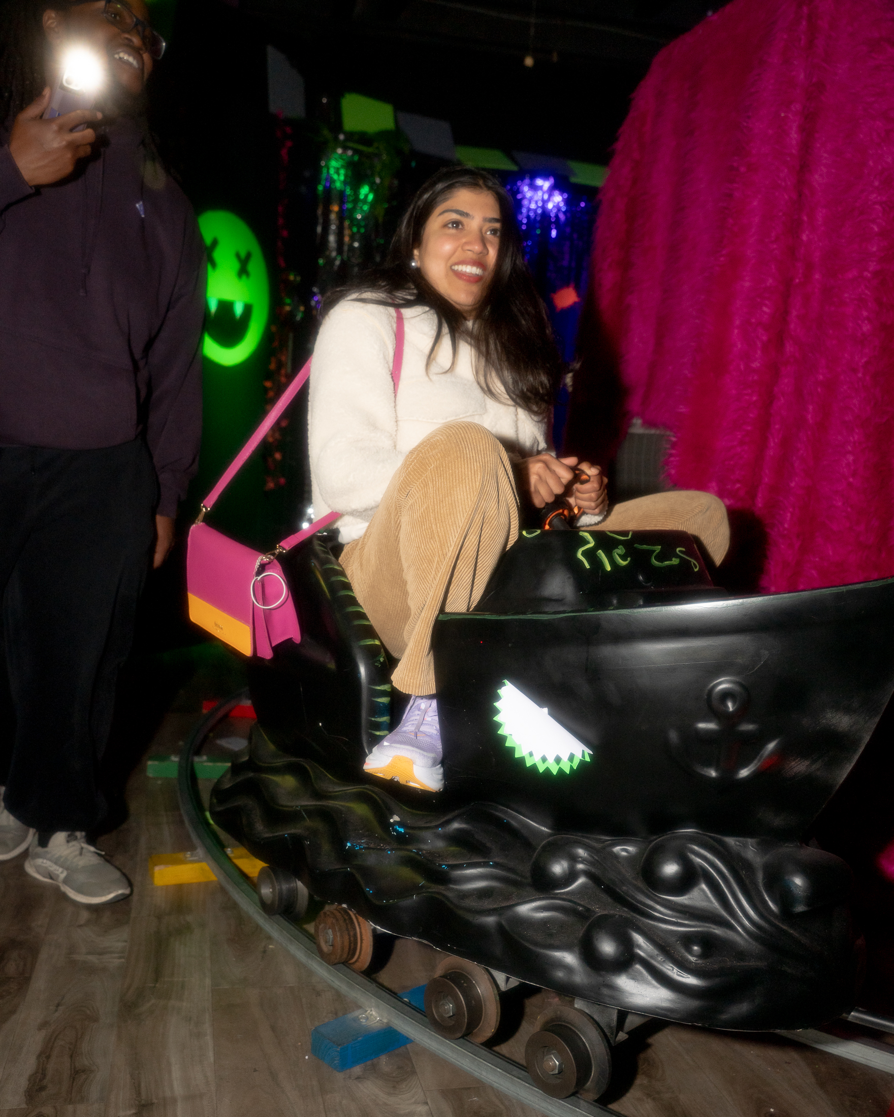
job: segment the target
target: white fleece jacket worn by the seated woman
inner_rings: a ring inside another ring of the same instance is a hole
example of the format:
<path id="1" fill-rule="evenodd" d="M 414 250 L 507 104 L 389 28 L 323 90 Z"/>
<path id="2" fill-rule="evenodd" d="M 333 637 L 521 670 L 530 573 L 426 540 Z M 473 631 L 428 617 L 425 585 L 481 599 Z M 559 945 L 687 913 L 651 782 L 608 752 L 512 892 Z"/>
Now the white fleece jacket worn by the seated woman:
<path id="1" fill-rule="evenodd" d="M 450 367 L 449 337 L 443 337 L 426 369 L 436 326 L 427 307 L 403 312 L 396 398 L 396 322 L 391 307 L 346 298 L 326 315 L 314 347 L 308 412 L 314 516 L 341 512 L 342 543 L 363 534 L 408 451 L 443 423 L 481 423 L 513 456 L 546 449 L 544 422 L 478 386 L 467 342 L 457 341 Z"/>

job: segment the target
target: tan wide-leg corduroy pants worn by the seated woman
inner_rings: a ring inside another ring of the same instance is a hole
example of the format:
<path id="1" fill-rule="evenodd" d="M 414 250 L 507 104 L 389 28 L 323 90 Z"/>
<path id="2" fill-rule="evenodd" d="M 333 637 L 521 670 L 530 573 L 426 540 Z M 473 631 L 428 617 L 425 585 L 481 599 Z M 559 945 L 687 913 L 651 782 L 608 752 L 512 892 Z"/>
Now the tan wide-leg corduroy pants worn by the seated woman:
<path id="1" fill-rule="evenodd" d="M 715 563 L 726 553 L 723 504 L 707 493 L 659 493 L 616 505 L 599 529 L 689 532 Z M 391 478 L 370 525 L 341 563 L 384 646 L 400 658 L 393 684 L 435 693 L 431 628 L 440 612 L 475 607 L 519 537 L 519 496 L 506 451 L 484 427 L 446 423 Z"/>

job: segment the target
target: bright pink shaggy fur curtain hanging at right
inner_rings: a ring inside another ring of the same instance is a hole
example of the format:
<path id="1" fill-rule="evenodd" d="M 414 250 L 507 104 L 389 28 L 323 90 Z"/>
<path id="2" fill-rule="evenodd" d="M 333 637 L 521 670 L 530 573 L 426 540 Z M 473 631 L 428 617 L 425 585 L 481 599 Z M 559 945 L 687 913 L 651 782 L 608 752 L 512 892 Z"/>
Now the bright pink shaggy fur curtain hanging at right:
<path id="1" fill-rule="evenodd" d="M 893 575 L 894 0 L 734 0 L 663 50 L 589 297 L 571 443 L 669 428 L 668 479 L 762 525 L 764 591 Z"/>

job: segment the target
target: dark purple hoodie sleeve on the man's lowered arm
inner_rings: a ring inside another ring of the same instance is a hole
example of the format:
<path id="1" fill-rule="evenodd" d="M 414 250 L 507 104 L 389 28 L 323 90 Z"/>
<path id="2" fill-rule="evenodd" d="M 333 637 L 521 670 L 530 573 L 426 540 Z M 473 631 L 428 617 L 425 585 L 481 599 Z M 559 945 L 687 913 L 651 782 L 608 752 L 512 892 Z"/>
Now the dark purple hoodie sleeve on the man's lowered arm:
<path id="1" fill-rule="evenodd" d="M 205 245 L 190 211 L 177 283 L 149 353 L 146 442 L 159 477 L 161 516 L 177 515 L 199 460 L 206 279 Z"/>

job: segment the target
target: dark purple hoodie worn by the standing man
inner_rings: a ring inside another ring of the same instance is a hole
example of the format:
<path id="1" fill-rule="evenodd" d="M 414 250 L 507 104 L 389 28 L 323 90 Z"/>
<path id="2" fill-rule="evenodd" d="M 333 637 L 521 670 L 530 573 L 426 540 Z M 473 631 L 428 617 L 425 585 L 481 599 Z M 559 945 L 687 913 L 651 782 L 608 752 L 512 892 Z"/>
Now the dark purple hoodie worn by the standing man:
<path id="1" fill-rule="evenodd" d="M 205 246 L 131 121 L 31 188 L 0 145 L 0 446 L 98 449 L 144 432 L 173 516 L 201 435 Z"/>

